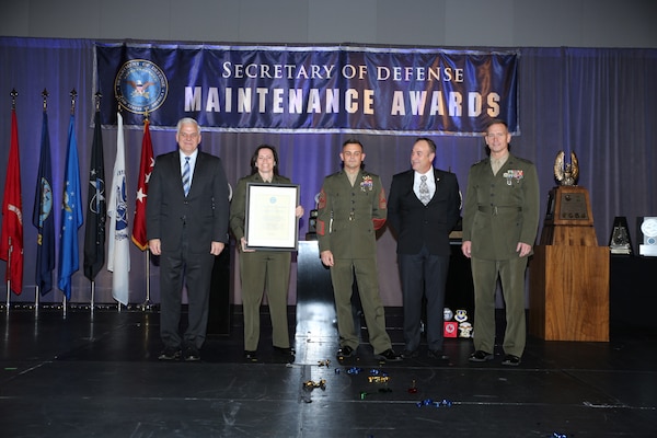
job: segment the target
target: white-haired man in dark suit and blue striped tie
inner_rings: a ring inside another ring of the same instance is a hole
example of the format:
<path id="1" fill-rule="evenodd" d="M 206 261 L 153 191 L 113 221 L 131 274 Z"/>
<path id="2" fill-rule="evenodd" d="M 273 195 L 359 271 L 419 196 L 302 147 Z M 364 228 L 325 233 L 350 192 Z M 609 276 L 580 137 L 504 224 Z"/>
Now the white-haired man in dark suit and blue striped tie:
<path id="1" fill-rule="evenodd" d="M 155 159 L 149 182 L 147 237 L 160 255 L 160 360 L 200 360 L 206 337 L 215 256 L 228 242 L 229 194 L 218 157 L 198 150 L 200 127 L 193 118 L 177 124 L 178 150 Z M 178 333 L 183 280 L 188 324 Z"/>

